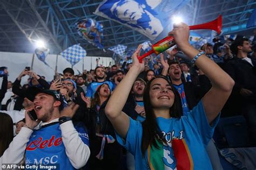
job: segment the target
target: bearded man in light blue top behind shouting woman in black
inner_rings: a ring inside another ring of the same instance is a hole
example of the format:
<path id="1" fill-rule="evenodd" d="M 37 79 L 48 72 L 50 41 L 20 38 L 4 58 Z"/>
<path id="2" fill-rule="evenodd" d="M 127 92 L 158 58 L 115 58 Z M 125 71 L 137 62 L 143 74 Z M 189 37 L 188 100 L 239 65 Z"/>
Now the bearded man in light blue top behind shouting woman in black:
<path id="1" fill-rule="evenodd" d="M 97 87 L 100 86 L 103 83 L 106 83 L 109 85 L 110 90 L 113 91 L 116 87 L 114 83 L 111 81 L 105 81 L 106 74 L 104 72 L 104 69 L 102 67 L 96 67 L 95 68 L 95 79 L 96 82 L 92 82 L 88 85 L 87 91 L 86 91 L 86 97 L 89 97 L 90 99 L 94 97 L 95 91 L 97 90 Z"/>

